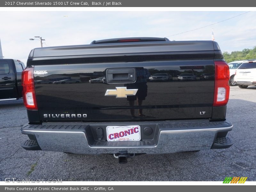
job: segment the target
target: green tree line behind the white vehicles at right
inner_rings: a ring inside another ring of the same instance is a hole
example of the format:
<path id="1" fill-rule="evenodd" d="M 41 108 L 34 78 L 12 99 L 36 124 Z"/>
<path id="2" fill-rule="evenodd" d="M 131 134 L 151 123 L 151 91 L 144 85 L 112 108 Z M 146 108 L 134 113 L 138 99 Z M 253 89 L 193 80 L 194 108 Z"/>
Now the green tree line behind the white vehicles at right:
<path id="1" fill-rule="evenodd" d="M 227 63 L 238 60 L 256 59 L 256 46 L 252 49 L 243 49 L 243 51 L 223 52 L 223 56 Z"/>

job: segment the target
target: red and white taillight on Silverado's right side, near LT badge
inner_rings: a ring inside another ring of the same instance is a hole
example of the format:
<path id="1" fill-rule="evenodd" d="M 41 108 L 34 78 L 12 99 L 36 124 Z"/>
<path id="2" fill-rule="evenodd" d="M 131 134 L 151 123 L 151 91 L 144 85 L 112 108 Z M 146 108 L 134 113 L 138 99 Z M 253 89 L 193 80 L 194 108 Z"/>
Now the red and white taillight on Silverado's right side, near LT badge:
<path id="1" fill-rule="evenodd" d="M 229 67 L 224 61 L 215 61 L 215 86 L 213 106 L 227 105 L 229 98 Z"/>

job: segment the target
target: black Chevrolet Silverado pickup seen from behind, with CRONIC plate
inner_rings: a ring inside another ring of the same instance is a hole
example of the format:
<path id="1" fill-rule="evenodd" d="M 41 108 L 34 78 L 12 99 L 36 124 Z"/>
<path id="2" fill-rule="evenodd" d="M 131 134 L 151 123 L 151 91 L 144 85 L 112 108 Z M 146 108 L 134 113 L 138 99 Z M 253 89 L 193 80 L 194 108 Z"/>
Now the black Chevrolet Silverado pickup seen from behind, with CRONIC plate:
<path id="1" fill-rule="evenodd" d="M 147 81 L 156 73 L 176 78 Z M 205 73 L 214 79 L 200 79 Z M 196 79 L 179 81 L 180 74 Z M 21 128 L 29 137 L 22 147 L 114 154 L 120 163 L 143 153 L 228 148 L 228 80 L 214 41 L 136 37 L 36 48 L 22 74 L 29 121 Z"/>

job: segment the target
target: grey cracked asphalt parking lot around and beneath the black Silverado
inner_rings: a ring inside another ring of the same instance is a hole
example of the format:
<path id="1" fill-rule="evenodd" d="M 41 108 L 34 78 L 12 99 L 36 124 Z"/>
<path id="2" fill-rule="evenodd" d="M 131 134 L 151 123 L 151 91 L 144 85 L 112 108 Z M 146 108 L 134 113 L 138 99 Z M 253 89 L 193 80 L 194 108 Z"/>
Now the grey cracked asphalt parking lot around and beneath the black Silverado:
<path id="1" fill-rule="evenodd" d="M 20 125 L 27 123 L 22 100 L 0 102 L 0 180 L 62 179 L 86 181 L 223 181 L 245 176 L 256 180 L 256 87 L 230 87 L 227 119 L 234 128 L 228 149 L 196 153 L 140 155 L 118 164 L 111 155 L 26 151 Z"/>

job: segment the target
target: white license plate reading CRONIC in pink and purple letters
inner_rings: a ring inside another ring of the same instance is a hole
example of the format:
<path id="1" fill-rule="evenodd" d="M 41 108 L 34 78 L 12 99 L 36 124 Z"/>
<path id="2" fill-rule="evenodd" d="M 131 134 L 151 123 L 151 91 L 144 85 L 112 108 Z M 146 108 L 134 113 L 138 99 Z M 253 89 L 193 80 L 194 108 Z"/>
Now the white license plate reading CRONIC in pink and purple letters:
<path id="1" fill-rule="evenodd" d="M 139 141 L 140 126 L 107 126 L 108 141 Z"/>

